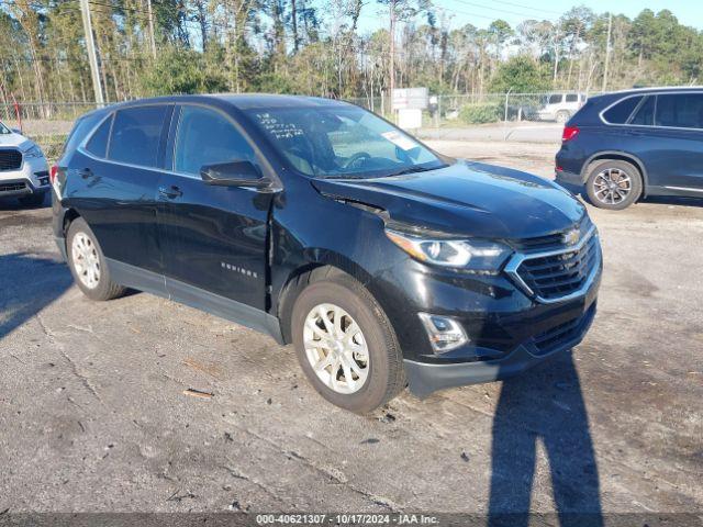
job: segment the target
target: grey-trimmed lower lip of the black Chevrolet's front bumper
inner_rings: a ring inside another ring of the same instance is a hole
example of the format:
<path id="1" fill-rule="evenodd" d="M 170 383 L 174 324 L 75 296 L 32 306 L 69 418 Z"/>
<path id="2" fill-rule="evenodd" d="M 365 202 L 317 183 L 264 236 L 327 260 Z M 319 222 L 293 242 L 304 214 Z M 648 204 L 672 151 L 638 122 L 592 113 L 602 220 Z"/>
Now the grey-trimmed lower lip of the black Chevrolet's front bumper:
<path id="1" fill-rule="evenodd" d="M 492 382 L 516 375 L 579 345 L 594 317 L 595 298 L 593 296 L 578 318 L 560 325 L 563 329 L 561 334 L 559 334 L 559 326 L 551 332 L 554 335 L 550 338 L 555 339 L 553 345 L 543 347 L 540 343 L 545 341 L 544 336 L 537 335 L 520 344 L 500 360 L 439 365 L 405 359 L 405 375 L 410 391 L 413 395 L 424 399 L 437 390 Z"/>

